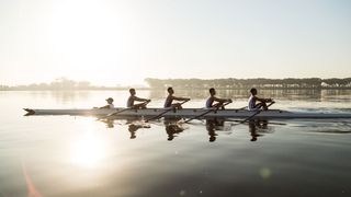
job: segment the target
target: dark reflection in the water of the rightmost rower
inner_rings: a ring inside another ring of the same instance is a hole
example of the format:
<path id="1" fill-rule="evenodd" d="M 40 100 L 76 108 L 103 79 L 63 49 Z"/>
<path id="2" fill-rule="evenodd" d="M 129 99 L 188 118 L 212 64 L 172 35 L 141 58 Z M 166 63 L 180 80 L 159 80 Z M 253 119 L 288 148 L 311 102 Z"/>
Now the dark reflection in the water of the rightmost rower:
<path id="1" fill-rule="evenodd" d="M 263 134 L 272 132 L 272 129 L 268 126 L 268 120 L 251 119 L 249 123 L 250 141 L 257 141 Z"/>

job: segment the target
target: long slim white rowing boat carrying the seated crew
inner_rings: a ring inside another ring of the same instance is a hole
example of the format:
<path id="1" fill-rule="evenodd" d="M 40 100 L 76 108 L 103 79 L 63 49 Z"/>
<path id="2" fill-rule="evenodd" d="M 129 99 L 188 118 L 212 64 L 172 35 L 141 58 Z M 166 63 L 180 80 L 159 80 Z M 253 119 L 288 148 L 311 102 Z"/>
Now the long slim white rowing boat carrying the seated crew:
<path id="1" fill-rule="evenodd" d="M 165 112 L 163 108 L 146 108 L 146 109 L 126 109 L 125 108 L 84 108 L 84 109 L 32 109 L 24 108 L 26 115 L 71 115 L 71 116 L 106 116 L 109 114 L 117 113 L 116 117 L 149 117 L 157 116 Z M 165 113 L 163 117 L 195 117 L 207 108 L 183 108 L 178 111 L 169 111 Z M 247 118 L 256 112 L 247 109 L 218 109 L 211 112 L 203 116 L 203 118 Z M 256 115 L 257 118 L 351 118 L 349 113 L 309 113 L 309 112 L 288 112 L 280 109 L 262 111 Z"/>

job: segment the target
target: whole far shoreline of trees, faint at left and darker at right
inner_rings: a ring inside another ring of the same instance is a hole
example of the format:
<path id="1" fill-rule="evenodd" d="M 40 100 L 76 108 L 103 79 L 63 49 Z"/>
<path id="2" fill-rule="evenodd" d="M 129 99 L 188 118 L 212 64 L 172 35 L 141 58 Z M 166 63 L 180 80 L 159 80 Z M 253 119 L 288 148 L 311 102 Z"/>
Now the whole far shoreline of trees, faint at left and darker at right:
<path id="1" fill-rule="evenodd" d="M 237 89 L 248 90 L 252 86 L 258 89 L 351 89 L 351 78 L 286 78 L 286 79 L 155 79 L 147 78 L 145 81 L 148 83 L 149 89 L 163 90 L 167 86 L 176 89 Z M 129 86 L 97 86 L 88 81 L 73 81 L 66 78 L 59 78 L 50 83 L 33 83 L 29 85 L 8 86 L 0 85 L 1 91 L 7 90 L 125 90 Z M 147 89 L 147 88 L 138 88 Z"/>

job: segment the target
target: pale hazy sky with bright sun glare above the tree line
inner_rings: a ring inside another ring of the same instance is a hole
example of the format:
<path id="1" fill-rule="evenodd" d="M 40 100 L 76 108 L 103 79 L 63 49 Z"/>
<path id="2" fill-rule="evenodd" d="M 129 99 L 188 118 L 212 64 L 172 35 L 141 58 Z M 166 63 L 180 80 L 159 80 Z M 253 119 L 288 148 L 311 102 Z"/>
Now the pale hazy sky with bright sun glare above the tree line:
<path id="1" fill-rule="evenodd" d="M 349 0 L 0 0 L 0 84 L 351 77 Z"/>

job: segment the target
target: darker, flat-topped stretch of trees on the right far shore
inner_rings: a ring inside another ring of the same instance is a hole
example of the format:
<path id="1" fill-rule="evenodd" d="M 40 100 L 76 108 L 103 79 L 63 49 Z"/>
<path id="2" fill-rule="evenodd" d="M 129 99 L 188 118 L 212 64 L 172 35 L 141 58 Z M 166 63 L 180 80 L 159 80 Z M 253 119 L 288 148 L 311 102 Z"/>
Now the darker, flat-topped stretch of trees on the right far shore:
<path id="1" fill-rule="evenodd" d="M 173 86 L 178 89 L 351 89 L 351 78 L 286 78 L 286 79 L 155 79 L 145 81 L 151 89 Z"/>

